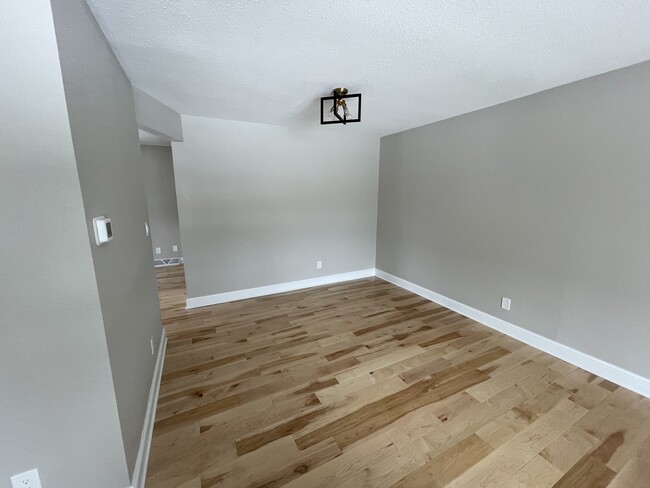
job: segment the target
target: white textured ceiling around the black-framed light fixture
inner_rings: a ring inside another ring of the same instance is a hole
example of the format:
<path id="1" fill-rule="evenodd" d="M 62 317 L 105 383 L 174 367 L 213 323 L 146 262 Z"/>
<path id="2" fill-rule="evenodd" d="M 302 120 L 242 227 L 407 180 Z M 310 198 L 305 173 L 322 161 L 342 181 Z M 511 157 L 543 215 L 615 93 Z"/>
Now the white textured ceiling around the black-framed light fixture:
<path id="1" fill-rule="evenodd" d="M 650 59 L 649 0 L 88 0 L 134 85 L 191 115 L 384 135 Z"/>

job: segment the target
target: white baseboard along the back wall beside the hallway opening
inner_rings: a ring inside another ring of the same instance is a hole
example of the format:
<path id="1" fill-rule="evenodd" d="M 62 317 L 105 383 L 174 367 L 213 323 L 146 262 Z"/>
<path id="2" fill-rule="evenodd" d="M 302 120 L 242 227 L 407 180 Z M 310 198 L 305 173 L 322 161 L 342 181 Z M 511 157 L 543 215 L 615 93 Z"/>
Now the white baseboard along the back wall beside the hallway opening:
<path id="1" fill-rule="evenodd" d="M 314 286 L 331 285 L 333 283 L 341 283 L 343 281 L 360 280 L 362 278 L 370 278 L 372 276 L 375 276 L 375 268 L 362 269 L 359 271 L 352 271 L 350 273 L 319 276 L 318 278 L 310 278 L 307 280 L 289 281 L 287 283 L 279 283 L 277 285 L 259 286 L 257 288 L 248 288 L 246 290 L 229 291 L 226 293 L 217 293 L 215 295 L 188 298 L 186 307 L 188 309 L 206 307 L 208 305 L 218 305 L 219 303 L 234 302 L 237 300 L 245 300 L 247 298 L 263 297 L 266 295 L 275 295 L 277 293 L 285 293 L 288 291 L 302 290 L 304 288 L 312 288 Z"/>

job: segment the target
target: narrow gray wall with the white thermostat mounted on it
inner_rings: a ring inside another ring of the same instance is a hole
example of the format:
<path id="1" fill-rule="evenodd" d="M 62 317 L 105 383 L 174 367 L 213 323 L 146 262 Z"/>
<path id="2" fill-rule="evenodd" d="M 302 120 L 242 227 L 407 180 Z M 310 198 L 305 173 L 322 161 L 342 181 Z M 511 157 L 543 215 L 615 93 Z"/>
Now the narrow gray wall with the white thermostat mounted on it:
<path id="1" fill-rule="evenodd" d="M 133 472 L 161 335 L 131 84 L 83 0 L 52 0 L 88 239 L 92 218 L 113 240 L 91 246 L 129 473 Z"/>

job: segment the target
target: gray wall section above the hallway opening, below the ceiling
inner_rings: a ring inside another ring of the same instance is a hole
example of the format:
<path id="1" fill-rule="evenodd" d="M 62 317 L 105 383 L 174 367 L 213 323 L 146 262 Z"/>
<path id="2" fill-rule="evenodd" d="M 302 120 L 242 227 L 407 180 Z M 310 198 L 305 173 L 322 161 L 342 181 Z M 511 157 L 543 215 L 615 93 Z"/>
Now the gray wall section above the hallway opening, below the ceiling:
<path id="1" fill-rule="evenodd" d="M 183 126 L 178 112 L 135 86 L 133 101 L 138 127 L 154 134 L 167 136 L 173 141 L 183 140 Z"/>

